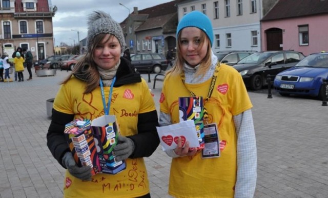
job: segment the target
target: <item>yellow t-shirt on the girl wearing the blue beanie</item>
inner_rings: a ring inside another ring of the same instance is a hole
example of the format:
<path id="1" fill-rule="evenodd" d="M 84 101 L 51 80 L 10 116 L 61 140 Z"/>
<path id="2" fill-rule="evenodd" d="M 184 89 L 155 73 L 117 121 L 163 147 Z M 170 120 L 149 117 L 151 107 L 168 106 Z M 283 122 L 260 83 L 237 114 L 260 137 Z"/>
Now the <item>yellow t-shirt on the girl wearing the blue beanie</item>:
<path id="1" fill-rule="evenodd" d="M 179 122 L 178 97 L 191 96 L 190 91 L 203 99 L 208 95 L 212 78 L 200 84 L 183 85 L 180 76 L 168 75 L 163 82 L 160 111 L 169 113 L 173 123 Z M 209 123 L 218 126 L 221 156 L 201 159 L 177 157 L 172 160 L 169 194 L 174 197 L 234 197 L 237 173 L 237 135 L 233 115 L 252 108 L 240 74 L 221 64 L 211 98 L 205 104 Z"/>

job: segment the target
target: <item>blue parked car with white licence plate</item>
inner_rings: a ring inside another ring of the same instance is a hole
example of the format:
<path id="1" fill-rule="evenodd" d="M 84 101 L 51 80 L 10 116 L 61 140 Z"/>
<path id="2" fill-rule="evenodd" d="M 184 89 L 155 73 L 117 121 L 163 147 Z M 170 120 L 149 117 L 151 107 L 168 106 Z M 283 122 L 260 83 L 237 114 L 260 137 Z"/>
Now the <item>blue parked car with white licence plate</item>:
<path id="1" fill-rule="evenodd" d="M 283 96 L 309 95 L 322 99 L 327 94 L 322 85 L 323 79 L 328 79 L 328 53 L 315 53 L 278 73 L 273 87 Z"/>

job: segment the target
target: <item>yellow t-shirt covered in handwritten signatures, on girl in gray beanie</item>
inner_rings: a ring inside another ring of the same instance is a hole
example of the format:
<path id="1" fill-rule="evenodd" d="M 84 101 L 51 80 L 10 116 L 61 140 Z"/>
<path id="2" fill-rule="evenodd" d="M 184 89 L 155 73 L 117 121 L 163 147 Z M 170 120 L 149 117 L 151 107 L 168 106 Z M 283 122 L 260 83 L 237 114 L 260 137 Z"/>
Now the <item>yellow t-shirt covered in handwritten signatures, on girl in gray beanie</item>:
<path id="1" fill-rule="evenodd" d="M 53 104 L 59 112 L 75 114 L 75 118 L 93 120 L 104 115 L 100 87 L 84 94 L 85 83 L 72 77 L 61 85 Z M 104 87 L 106 104 L 110 87 Z M 113 88 L 110 114 L 116 115 L 120 133 L 137 134 L 138 114 L 156 110 L 148 85 L 141 83 Z M 81 181 L 66 171 L 65 197 L 136 197 L 149 193 L 148 175 L 143 158 L 127 159 L 127 168 L 117 174 L 98 173 L 92 181 Z"/>

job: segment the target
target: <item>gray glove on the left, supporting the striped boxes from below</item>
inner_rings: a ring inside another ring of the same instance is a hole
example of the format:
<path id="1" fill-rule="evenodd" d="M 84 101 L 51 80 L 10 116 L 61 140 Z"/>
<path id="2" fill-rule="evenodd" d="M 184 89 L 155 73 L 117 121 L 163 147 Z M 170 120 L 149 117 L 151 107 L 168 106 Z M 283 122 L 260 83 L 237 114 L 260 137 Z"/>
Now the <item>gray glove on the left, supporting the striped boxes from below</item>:
<path id="1" fill-rule="evenodd" d="M 63 162 L 63 165 L 67 168 L 68 172 L 70 172 L 71 175 L 75 176 L 80 180 L 91 181 L 90 166 L 78 167 L 71 152 L 65 153 L 61 162 Z"/>

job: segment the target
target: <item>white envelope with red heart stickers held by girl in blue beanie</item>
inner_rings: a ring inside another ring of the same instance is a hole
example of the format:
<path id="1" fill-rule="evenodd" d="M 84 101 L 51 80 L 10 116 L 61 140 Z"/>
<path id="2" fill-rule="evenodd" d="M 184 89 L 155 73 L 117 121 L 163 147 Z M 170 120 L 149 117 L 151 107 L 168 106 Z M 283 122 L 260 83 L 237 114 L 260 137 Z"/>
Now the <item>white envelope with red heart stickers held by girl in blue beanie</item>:
<path id="1" fill-rule="evenodd" d="M 199 141 L 192 120 L 182 121 L 177 124 L 156 127 L 162 149 L 172 150 L 177 147 L 178 138 L 181 137 L 182 146 L 189 142 L 189 147 L 199 147 Z"/>

